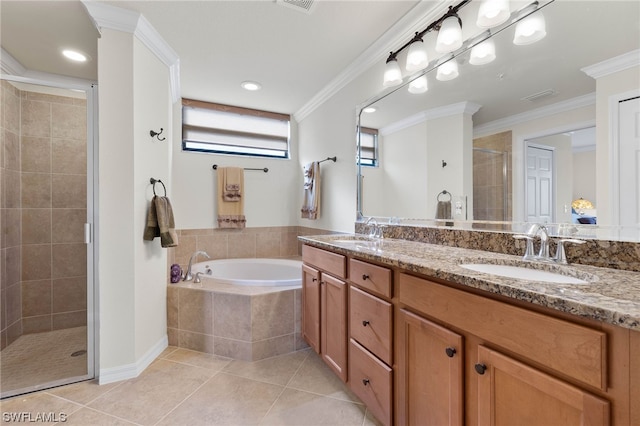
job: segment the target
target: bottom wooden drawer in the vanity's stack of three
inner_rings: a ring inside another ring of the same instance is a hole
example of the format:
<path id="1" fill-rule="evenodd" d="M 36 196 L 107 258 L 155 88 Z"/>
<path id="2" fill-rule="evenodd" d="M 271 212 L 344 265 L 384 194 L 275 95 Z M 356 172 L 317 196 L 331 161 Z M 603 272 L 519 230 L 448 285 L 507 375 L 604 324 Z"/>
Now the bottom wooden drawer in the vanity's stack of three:
<path id="1" fill-rule="evenodd" d="M 391 368 L 351 339 L 349 342 L 349 386 L 376 418 L 391 424 Z"/>

